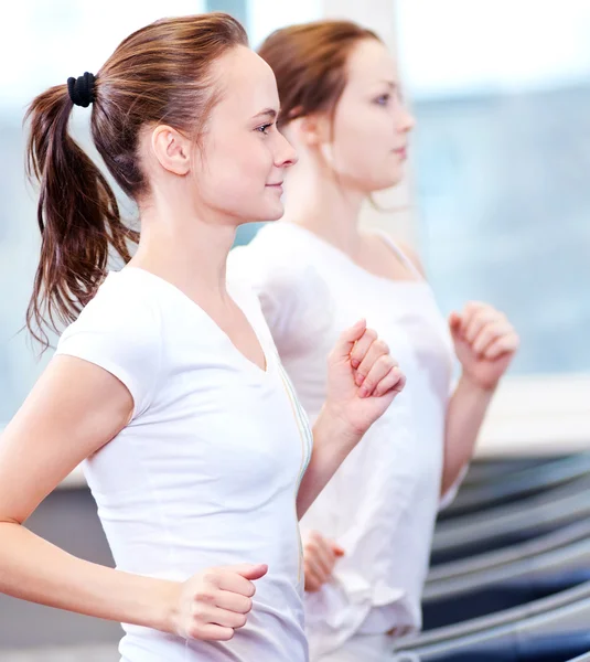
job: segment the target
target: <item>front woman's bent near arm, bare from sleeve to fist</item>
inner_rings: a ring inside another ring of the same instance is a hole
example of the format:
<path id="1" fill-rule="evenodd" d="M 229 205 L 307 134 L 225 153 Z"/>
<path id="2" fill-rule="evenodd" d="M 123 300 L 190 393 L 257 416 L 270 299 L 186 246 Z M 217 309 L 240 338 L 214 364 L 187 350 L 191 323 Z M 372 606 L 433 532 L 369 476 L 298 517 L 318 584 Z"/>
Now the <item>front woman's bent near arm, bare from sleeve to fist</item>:
<path id="1" fill-rule="evenodd" d="M 127 387 L 107 371 L 71 356 L 50 363 L 0 438 L 0 591 L 189 638 L 230 639 L 251 608 L 250 579 L 266 566 L 213 568 L 182 584 L 152 579 L 76 558 L 22 525 L 128 424 L 132 408 Z"/>

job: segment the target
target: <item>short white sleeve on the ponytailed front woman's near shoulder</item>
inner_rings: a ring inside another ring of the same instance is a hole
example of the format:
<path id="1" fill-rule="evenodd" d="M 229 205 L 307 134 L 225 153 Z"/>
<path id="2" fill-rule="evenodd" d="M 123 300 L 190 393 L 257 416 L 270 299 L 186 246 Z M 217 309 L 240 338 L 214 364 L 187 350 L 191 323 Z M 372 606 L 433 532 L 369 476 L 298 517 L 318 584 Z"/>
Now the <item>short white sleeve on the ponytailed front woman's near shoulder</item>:
<path id="1" fill-rule="evenodd" d="M 55 354 L 83 359 L 117 377 L 133 398 L 137 418 L 149 407 L 158 381 L 159 318 L 144 297 L 107 285 L 64 331 Z"/>

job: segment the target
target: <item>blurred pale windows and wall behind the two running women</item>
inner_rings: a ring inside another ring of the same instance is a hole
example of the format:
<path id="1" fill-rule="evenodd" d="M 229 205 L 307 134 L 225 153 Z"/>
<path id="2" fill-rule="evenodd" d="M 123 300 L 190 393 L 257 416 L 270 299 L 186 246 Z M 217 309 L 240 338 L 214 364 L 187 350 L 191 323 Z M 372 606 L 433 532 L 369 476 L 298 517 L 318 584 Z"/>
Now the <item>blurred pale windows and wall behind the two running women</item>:
<path id="1" fill-rule="evenodd" d="M 528 470 L 524 478 L 513 477 L 515 485 L 524 484 L 532 467 L 551 462 L 561 462 L 558 473 L 569 481 L 564 467 L 586 467 L 580 458 L 590 446 L 589 0 L 6 3 L 0 10 L 0 429 L 51 355 L 39 361 L 36 348 L 20 332 L 39 253 L 35 197 L 23 169 L 26 104 L 68 76 L 98 71 L 141 25 L 214 10 L 238 18 L 255 47 L 282 25 L 350 18 L 376 30 L 395 52 L 418 124 L 406 181 L 379 196 L 380 206 L 394 211 L 367 207 L 365 223 L 417 246 L 444 312 L 468 299 L 486 300 L 506 311 L 522 337 L 466 488 L 492 490 L 498 477 Z M 75 132 L 87 143 L 86 122 L 86 113 L 76 109 Z M 238 242 L 249 241 L 256 229 L 242 228 Z M 548 480 L 553 488 L 555 478 Z M 78 474 L 42 509 L 31 521 L 40 533 L 108 563 Z M 0 599 L 0 661 L 107 662 L 118 659 L 118 637 L 111 623 L 64 619 Z"/>

